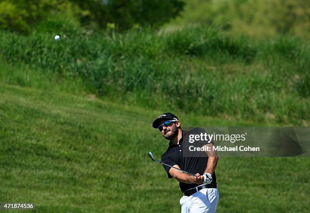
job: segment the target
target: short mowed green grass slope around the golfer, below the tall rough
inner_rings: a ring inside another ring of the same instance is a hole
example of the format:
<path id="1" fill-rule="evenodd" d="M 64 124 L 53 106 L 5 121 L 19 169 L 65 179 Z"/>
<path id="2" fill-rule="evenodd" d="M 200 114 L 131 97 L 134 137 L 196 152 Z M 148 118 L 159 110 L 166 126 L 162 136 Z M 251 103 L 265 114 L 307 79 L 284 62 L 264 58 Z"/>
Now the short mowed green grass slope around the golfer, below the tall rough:
<path id="1" fill-rule="evenodd" d="M 255 126 L 192 117 L 184 126 Z M 180 212 L 181 192 L 159 158 L 160 113 L 96 98 L 0 83 L 0 201 L 36 212 Z M 269 124 L 278 125 L 281 124 Z M 218 212 L 308 212 L 308 157 L 221 157 Z"/>

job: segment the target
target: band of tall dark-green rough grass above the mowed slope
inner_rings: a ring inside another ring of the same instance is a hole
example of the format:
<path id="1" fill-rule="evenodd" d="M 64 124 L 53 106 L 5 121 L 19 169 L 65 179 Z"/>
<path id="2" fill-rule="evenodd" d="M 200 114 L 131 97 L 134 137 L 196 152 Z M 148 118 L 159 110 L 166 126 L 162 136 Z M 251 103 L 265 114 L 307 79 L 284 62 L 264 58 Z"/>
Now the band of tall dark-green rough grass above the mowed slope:
<path id="1" fill-rule="evenodd" d="M 256 41 L 202 25 L 123 34 L 67 27 L 59 34 L 56 42 L 53 32 L 1 32 L 1 60 L 82 79 L 103 98 L 153 109 L 298 125 L 309 120 L 310 50 L 302 39 Z"/>

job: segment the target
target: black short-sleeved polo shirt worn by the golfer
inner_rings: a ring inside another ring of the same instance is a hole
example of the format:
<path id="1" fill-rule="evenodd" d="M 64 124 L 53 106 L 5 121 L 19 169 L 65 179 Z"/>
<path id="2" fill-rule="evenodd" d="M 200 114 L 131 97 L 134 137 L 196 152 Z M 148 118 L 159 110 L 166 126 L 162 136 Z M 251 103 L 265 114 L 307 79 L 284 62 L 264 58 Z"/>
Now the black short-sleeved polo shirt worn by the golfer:
<path id="1" fill-rule="evenodd" d="M 204 151 L 196 152 L 195 155 L 192 156 L 189 156 L 188 152 L 186 154 L 183 153 L 184 151 L 188 150 L 187 146 L 191 145 L 187 141 L 188 136 L 190 134 L 201 134 L 203 132 L 205 132 L 205 130 L 202 128 L 195 128 L 190 131 L 182 130 L 182 138 L 179 140 L 179 144 L 175 145 L 170 141 L 167 151 L 162 155 L 162 162 L 170 166 L 178 165 L 181 170 L 190 172 L 192 174 L 199 173 L 200 175 L 203 175 L 207 167 L 208 155 Z M 183 141 L 183 139 L 186 141 Z M 206 143 L 202 142 L 199 146 L 201 147 L 204 144 Z M 169 170 L 173 170 L 173 168 L 170 168 L 166 165 L 163 166 L 168 174 L 168 178 L 173 178 L 169 174 Z M 215 172 L 212 174 L 212 179 L 212 183 L 216 183 Z M 187 184 L 182 182 L 179 182 L 179 185 L 182 192 L 187 189 L 199 186 L 198 184 Z"/>

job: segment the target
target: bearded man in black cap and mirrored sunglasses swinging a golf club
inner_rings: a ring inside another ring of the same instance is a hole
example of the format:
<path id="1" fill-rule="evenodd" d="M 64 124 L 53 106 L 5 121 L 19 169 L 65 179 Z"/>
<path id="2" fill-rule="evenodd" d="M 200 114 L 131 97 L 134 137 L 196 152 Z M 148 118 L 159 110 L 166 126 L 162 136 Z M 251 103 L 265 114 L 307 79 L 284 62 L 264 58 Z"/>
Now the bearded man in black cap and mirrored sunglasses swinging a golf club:
<path id="1" fill-rule="evenodd" d="M 153 122 L 152 127 L 158 128 L 162 135 L 170 140 L 167 151 L 162 155 L 162 162 L 196 174 L 196 176 L 187 175 L 163 165 L 168 178 L 175 178 L 179 181 L 183 193 L 183 197 L 180 199 L 181 212 L 215 212 L 219 199 L 214 172 L 218 156 L 212 149 L 213 142 L 210 143 L 208 138 L 196 141 L 198 147 L 209 147 L 204 151 L 192 152 L 188 148 L 194 144 L 193 142 L 188 143 L 188 138 L 191 135 L 203 136 L 206 132 L 201 128 L 190 131 L 182 130 L 181 122 L 171 113 L 162 114 Z"/>

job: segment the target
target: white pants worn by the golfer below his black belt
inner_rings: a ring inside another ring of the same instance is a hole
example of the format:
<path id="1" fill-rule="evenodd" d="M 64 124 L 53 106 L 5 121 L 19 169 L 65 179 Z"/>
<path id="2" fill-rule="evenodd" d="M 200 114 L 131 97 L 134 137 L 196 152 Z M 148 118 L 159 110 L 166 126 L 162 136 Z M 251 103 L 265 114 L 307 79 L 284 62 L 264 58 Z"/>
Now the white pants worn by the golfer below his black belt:
<path id="1" fill-rule="evenodd" d="M 218 203 L 217 189 L 202 189 L 190 196 L 180 199 L 181 213 L 213 213 Z"/>

